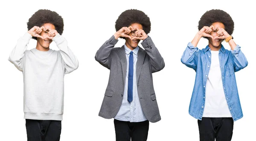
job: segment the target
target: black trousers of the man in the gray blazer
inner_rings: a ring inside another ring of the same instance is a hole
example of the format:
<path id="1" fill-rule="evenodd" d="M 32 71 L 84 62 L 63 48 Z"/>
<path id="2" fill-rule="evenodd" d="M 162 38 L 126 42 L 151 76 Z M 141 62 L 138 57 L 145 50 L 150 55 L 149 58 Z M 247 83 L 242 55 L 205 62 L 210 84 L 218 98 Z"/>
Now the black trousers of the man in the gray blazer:
<path id="1" fill-rule="evenodd" d="M 142 122 L 119 121 L 114 119 L 116 141 L 147 141 L 148 120 Z"/>

